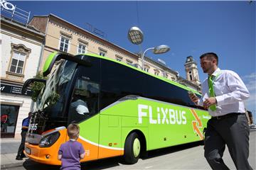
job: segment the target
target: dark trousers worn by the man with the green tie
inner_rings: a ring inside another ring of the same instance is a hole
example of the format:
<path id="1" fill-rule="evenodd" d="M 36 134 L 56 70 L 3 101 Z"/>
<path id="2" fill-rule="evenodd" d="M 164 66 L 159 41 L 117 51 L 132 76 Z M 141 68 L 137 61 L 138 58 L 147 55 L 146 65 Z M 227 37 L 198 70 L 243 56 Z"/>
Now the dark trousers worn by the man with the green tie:
<path id="1" fill-rule="evenodd" d="M 212 169 L 228 169 L 223 162 L 225 145 L 228 147 L 236 169 L 250 170 L 249 135 L 250 129 L 245 114 L 230 113 L 220 120 L 208 120 L 205 134 L 205 157 Z"/>

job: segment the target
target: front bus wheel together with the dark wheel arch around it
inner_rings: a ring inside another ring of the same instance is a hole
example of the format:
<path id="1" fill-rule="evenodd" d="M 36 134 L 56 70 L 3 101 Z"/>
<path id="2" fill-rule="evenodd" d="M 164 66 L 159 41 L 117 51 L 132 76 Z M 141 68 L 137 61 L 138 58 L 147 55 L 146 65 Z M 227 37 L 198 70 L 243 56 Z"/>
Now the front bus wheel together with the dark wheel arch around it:
<path id="1" fill-rule="evenodd" d="M 124 161 L 135 164 L 139 157 L 146 152 L 146 138 L 140 130 L 129 132 L 124 143 Z"/>

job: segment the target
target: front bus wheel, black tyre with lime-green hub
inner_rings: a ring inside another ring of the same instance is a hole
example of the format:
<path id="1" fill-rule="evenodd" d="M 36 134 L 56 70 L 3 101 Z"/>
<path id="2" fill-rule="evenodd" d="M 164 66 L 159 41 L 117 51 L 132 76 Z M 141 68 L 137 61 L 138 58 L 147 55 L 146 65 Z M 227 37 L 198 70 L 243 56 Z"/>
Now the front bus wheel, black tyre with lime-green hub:
<path id="1" fill-rule="evenodd" d="M 141 141 L 136 132 L 132 132 L 125 140 L 124 145 L 124 161 L 127 164 L 135 164 L 139 160 L 141 154 Z"/>

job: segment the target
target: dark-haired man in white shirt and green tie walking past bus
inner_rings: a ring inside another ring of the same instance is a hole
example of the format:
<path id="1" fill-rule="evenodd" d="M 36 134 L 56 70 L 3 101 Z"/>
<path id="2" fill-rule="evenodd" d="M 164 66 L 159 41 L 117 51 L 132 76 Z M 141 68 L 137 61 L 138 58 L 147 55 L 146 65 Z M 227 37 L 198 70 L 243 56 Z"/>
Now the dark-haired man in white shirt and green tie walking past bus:
<path id="1" fill-rule="evenodd" d="M 203 81 L 201 98 L 189 96 L 212 116 L 207 123 L 204 156 L 212 169 L 228 169 L 222 159 L 227 145 L 236 169 L 252 169 L 247 160 L 250 130 L 243 103 L 249 98 L 249 91 L 238 74 L 218 68 L 214 52 L 201 55 L 200 60 L 208 78 Z"/>

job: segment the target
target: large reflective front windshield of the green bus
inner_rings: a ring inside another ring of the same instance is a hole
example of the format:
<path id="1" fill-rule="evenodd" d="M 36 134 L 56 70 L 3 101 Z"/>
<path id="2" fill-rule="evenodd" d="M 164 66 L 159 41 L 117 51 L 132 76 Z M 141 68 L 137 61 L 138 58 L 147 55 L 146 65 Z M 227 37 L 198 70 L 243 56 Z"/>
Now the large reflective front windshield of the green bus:
<path id="1" fill-rule="evenodd" d="M 70 61 L 60 62 L 55 67 L 38 96 L 29 132 L 41 134 L 45 130 L 67 123 L 68 115 L 64 109 L 76 67 L 77 63 Z"/>

